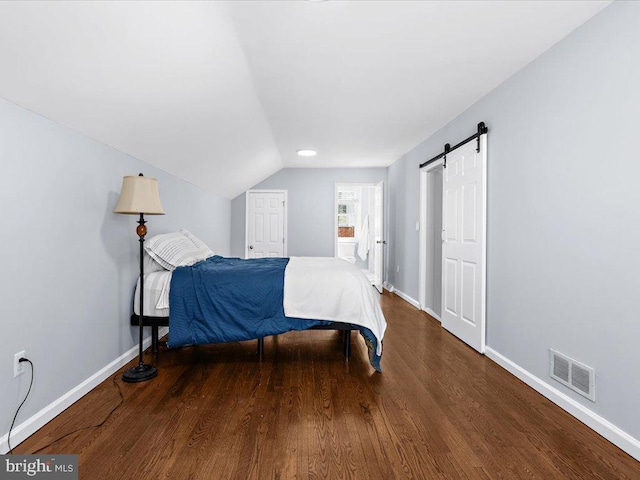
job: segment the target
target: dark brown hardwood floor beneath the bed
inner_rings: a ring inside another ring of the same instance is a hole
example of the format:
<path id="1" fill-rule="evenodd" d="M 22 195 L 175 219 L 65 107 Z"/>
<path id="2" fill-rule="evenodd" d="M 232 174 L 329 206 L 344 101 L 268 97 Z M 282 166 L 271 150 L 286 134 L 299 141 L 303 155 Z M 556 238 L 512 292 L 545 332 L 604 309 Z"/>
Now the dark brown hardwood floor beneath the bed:
<path id="1" fill-rule="evenodd" d="M 261 362 L 255 341 L 163 350 L 156 379 L 119 372 L 15 452 L 77 453 L 87 480 L 640 479 L 438 322 L 392 294 L 382 305 L 383 374 L 355 332 L 348 361 L 326 331 L 267 339 Z"/>

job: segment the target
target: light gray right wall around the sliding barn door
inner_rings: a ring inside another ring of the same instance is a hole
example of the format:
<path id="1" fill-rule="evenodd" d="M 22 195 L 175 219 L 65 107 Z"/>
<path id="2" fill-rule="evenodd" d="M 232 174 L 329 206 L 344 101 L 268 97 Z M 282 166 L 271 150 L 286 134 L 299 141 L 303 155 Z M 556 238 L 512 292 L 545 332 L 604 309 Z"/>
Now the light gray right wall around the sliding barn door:
<path id="1" fill-rule="evenodd" d="M 418 165 L 485 121 L 488 345 L 640 438 L 640 3 L 615 2 L 389 168 L 390 282 L 418 298 Z M 549 379 L 596 369 L 596 403 Z"/>

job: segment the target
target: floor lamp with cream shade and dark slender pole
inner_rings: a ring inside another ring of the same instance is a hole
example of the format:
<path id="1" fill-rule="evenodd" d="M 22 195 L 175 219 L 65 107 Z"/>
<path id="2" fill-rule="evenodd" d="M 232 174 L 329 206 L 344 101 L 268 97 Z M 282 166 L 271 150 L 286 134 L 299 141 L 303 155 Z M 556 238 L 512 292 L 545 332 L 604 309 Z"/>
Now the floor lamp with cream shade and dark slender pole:
<path id="1" fill-rule="evenodd" d="M 138 366 L 130 368 L 122 375 L 125 382 L 144 382 L 158 375 L 158 369 L 153 365 L 145 364 L 142 359 L 142 327 L 144 325 L 144 236 L 147 234 L 144 215 L 164 215 L 160 196 L 158 195 L 158 181 L 155 178 L 145 177 L 142 174 L 137 177 L 124 177 L 120 200 L 114 213 L 126 215 L 140 215 L 136 233 L 140 241 L 140 315 L 138 316 Z"/>

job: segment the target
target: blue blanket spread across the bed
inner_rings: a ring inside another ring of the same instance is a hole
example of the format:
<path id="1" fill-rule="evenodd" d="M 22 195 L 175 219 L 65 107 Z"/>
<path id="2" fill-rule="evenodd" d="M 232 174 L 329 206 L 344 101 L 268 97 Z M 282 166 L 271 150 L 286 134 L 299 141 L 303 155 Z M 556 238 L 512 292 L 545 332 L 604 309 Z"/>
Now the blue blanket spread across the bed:
<path id="1" fill-rule="evenodd" d="M 169 347 L 252 340 L 333 323 L 285 317 L 282 299 L 288 262 L 288 258 L 242 260 L 216 255 L 177 268 L 169 292 Z M 380 370 L 373 333 L 354 328 L 365 338 L 371 364 Z"/>

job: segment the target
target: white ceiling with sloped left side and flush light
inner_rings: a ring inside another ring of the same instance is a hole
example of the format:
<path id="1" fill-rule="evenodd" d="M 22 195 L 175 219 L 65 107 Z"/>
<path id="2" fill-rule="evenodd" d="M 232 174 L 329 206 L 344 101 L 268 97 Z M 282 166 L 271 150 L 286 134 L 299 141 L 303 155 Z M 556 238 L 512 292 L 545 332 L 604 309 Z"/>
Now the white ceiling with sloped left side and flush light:
<path id="1" fill-rule="evenodd" d="M 0 96 L 233 198 L 390 165 L 609 3 L 0 2 Z"/>

